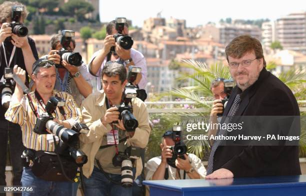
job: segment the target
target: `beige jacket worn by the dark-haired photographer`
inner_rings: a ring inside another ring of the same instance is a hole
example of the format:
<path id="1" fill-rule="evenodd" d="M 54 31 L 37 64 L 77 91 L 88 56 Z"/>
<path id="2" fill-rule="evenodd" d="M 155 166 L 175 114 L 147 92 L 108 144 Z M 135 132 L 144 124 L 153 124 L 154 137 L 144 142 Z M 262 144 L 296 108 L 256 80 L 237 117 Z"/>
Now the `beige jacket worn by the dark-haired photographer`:
<path id="1" fill-rule="evenodd" d="M 135 130 L 134 136 L 126 140 L 128 146 L 137 146 L 145 148 L 150 135 L 150 127 L 148 122 L 148 112 L 146 105 L 138 98 L 132 99 L 133 115 L 138 121 L 138 127 Z M 99 150 L 101 145 L 106 144 L 106 135 L 111 131 L 111 126 L 108 124 L 106 127 L 102 124 L 100 118 L 105 115 L 106 104 L 105 94 L 103 90 L 95 92 L 89 95 L 81 105 L 81 112 L 83 117 L 83 123 L 85 123 L 89 132 L 87 135 L 80 135 L 80 149 L 87 155 L 88 162 L 83 166 L 83 174 L 89 178 L 94 166 L 94 158 L 99 151 L 102 158 L 101 166 L 103 170 L 110 174 L 120 174 L 119 167 L 112 166 L 112 158 L 115 154 L 114 147 L 108 147 Z M 120 149 L 119 149 L 120 150 Z M 135 177 L 139 176 L 142 170 L 141 159 L 136 161 L 136 174 Z"/>

